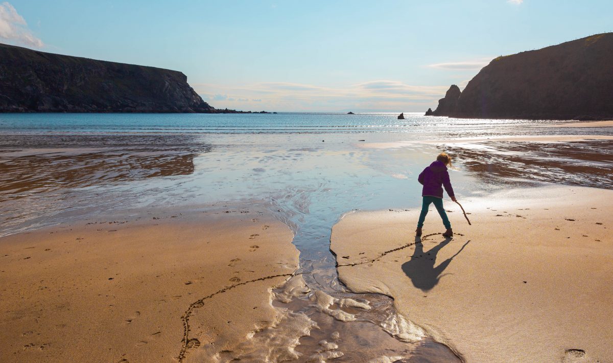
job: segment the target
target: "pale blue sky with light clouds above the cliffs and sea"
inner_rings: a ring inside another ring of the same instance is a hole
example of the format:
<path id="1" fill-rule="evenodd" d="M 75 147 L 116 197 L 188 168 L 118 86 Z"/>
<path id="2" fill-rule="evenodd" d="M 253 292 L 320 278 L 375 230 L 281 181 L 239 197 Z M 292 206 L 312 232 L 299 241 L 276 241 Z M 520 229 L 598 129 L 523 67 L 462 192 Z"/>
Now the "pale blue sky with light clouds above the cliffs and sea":
<path id="1" fill-rule="evenodd" d="M 0 3 L 0 42 L 183 72 L 218 109 L 424 112 L 509 55 L 613 31 L 611 0 Z"/>

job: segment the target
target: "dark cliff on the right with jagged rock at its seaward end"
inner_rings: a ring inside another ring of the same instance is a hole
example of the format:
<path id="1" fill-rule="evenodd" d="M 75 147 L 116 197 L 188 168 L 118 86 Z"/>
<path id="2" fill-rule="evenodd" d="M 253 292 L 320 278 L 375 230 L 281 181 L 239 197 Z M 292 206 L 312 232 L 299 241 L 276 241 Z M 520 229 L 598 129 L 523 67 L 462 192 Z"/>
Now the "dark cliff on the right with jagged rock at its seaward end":
<path id="1" fill-rule="evenodd" d="M 613 118 L 613 33 L 493 59 L 432 115 L 462 118 Z"/>

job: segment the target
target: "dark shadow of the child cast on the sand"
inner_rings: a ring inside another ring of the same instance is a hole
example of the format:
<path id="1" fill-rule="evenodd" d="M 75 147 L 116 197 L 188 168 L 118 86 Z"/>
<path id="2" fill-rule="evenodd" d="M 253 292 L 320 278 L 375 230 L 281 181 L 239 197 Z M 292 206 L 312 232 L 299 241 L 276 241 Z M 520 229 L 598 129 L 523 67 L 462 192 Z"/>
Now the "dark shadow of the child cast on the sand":
<path id="1" fill-rule="evenodd" d="M 451 256 L 451 258 L 446 259 L 438 266 L 434 267 L 436 262 L 436 254 L 438 254 L 438 251 L 440 251 L 441 248 L 446 246 L 449 242 L 451 242 L 451 238 L 446 238 L 443 240 L 443 242 L 434 246 L 427 252 L 424 252 L 424 245 L 421 243 L 421 240 L 415 243 L 413 256 L 409 261 L 402 264 L 402 270 L 411 279 L 413 286 L 424 292 L 430 291 L 438 284 L 441 277 L 446 275 L 446 273 L 443 274 L 443 271 L 447 268 L 447 266 L 449 266 L 451 260 L 457 256 L 466 245 L 468 245 L 470 240 L 464 243 L 462 248 Z"/>

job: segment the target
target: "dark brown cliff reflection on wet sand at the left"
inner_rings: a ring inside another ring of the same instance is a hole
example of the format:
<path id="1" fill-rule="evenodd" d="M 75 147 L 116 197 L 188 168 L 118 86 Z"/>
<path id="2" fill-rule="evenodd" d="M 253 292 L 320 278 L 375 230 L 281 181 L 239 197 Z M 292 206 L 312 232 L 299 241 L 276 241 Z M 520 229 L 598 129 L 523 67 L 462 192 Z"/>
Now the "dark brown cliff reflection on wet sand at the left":
<path id="1" fill-rule="evenodd" d="M 0 202 L 59 188 L 189 175 L 211 146 L 189 135 L 7 135 L 0 141 Z"/>

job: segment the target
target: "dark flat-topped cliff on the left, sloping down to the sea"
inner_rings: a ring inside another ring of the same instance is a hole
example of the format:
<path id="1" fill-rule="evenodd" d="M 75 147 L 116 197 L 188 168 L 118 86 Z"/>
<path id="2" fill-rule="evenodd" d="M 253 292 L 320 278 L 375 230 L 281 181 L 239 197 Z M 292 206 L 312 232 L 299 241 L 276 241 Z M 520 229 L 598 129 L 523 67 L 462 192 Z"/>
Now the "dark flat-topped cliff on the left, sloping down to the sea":
<path id="1" fill-rule="evenodd" d="M 215 110 L 185 74 L 0 44 L 0 112 Z"/>

